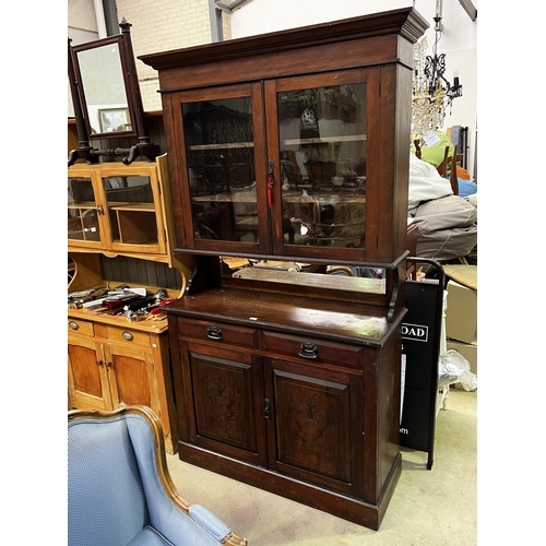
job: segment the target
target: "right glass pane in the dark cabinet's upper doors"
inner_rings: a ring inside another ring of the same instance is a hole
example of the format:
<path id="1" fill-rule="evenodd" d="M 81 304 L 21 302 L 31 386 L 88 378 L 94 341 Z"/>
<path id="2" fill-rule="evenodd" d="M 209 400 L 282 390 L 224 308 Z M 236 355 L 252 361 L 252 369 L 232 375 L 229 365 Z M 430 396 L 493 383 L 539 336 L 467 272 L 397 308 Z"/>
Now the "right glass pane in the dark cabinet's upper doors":
<path id="1" fill-rule="evenodd" d="M 286 245 L 364 248 L 366 84 L 277 94 Z"/>

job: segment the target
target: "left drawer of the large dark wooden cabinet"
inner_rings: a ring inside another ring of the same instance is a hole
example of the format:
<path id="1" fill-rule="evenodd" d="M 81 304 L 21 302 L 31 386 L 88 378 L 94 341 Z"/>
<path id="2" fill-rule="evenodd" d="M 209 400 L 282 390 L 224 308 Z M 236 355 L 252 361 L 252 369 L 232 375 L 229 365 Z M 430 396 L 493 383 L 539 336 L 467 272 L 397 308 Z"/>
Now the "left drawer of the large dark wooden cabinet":
<path id="1" fill-rule="evenodd" d="M 177 319 L 179 337 L 193 337 L 201 341 L 215 341 L 236 347 L 258 347 L 258 330 L 236 327 L 225 322 L 206 320 Z"/>

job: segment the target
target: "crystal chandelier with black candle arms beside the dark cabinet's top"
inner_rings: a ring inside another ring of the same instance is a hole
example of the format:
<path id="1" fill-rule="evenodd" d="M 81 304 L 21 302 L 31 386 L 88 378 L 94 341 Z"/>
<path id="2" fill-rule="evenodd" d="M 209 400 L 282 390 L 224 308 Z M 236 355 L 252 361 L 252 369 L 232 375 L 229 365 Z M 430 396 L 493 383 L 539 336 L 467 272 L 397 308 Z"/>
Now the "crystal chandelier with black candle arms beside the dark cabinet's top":
<path id="1" fill-rule="evenodd" d="M 412 134 L 420 139 L 429 132 L 443 127 L 446 111 L 451 114 L 452 103 L 463 95 L 459 74 L 453 74 L 453 85 L 444 76 L 446 54 L 438 55 L 438 41 L 441 37 L 441 16 L 434 17 L 435 44 L 432 55 L 427 55 L 428 44 L 425 36 L 414 46 L 414 73 L 412 97 Z"/>

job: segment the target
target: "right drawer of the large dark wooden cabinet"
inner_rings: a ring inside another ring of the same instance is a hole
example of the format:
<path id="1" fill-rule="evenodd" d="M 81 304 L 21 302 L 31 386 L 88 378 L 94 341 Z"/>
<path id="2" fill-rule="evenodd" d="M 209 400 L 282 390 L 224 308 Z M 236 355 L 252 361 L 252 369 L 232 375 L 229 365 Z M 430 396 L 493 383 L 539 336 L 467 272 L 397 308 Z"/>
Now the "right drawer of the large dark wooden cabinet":
<path id="1" fill-rule="evenodd" d="M 263 349 L 301 361 L 334 364 L 349 368 L 360 368 L 359 354 L 361 347 L 344 345 L 307 335 L 286 335 L 263 332 Z"/>

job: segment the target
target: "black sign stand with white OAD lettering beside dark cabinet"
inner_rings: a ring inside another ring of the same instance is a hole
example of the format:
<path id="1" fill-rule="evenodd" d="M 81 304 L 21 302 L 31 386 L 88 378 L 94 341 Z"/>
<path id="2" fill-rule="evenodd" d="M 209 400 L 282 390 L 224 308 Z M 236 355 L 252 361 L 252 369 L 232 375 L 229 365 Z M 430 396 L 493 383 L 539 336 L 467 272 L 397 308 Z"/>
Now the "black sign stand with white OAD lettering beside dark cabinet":
<path id="1" fill-rule="evenodd" d="M 426 264 L 438 273 L 438 282 L 406 281 L 402 324 L 404 396 L 400 425 L 400 444 L 428 452 L 427 468 L 432 468 L 436 402 L 438 395 L 438 359 L 443 312 L 444 274 L 442 266 L 426 258 L 407 258 L 407 262 Z M 405 364 L 405 366 L 404 366 Z"/>

